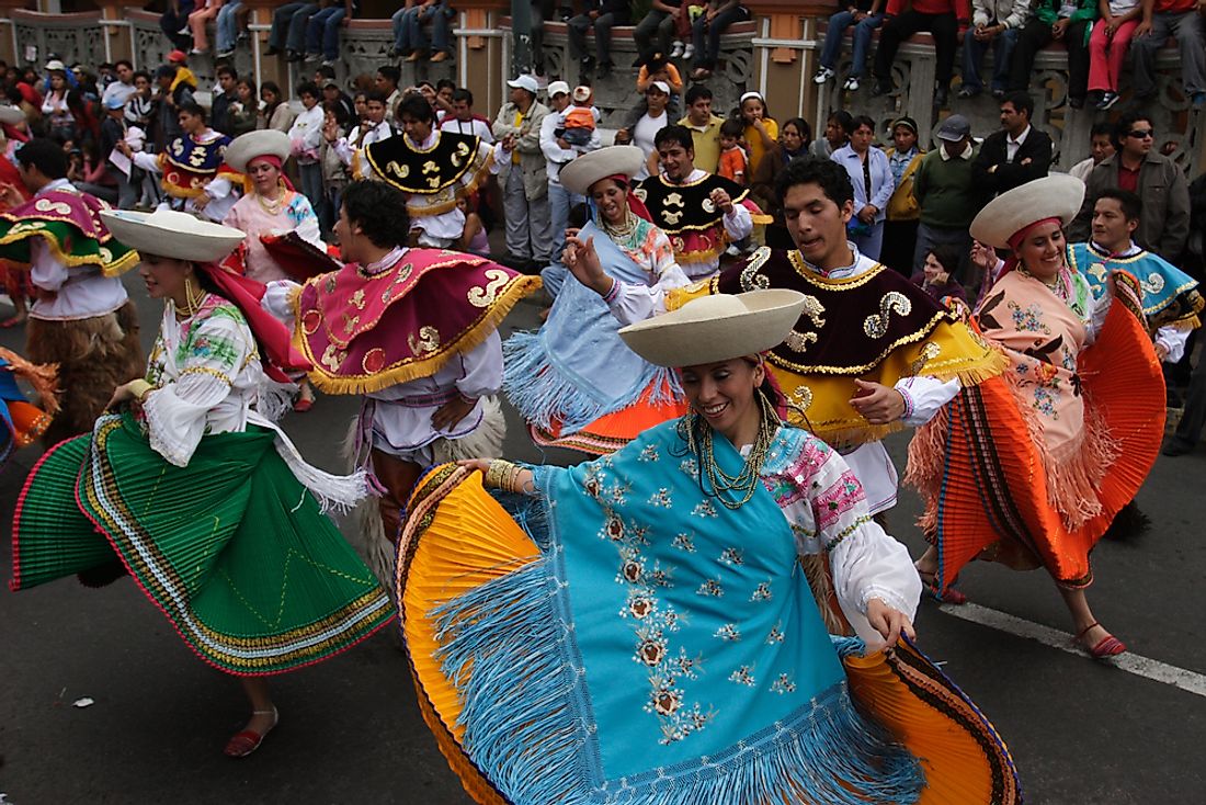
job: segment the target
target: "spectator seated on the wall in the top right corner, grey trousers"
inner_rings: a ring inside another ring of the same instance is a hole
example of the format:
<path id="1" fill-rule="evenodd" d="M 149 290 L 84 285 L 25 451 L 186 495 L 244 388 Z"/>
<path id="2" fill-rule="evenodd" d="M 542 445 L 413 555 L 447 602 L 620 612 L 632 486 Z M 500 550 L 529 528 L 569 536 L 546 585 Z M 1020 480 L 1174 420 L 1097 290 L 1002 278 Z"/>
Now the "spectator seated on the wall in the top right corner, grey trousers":
<path id="1" fill-rule="evenodd" d="M 1194 109 L 1206 107 L 1206 41 L 1202 5 L 1194 0 L 1148 0 L 1143 22 L 1135 30 L 1135 94 L 1155 95 L 1155 53 L 1170 36 L 1181 54 L 1181 82 Z"/>

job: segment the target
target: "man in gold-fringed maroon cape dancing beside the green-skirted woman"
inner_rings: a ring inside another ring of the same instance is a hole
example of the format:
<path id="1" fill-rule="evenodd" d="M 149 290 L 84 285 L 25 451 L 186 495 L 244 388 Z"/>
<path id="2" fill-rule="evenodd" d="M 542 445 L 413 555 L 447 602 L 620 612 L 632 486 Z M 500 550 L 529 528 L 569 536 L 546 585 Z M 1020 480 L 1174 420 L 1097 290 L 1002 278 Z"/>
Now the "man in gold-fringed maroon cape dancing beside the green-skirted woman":
<path id="1" fill-rule="evenodd" d="M 540 287 L 485 257 L 408 247 L 408 206 L 388 183 L 352 182 L 335 224 L 347 262 L 300 287 L 271 282 L 264 297 L 294 329 L 320 390 L 364 396 L 345 454 L 371 469 L 381 492 L 376 515 L 358 519 L 382 579 L 423 467 L 502 450 L 498 326 Z"/>

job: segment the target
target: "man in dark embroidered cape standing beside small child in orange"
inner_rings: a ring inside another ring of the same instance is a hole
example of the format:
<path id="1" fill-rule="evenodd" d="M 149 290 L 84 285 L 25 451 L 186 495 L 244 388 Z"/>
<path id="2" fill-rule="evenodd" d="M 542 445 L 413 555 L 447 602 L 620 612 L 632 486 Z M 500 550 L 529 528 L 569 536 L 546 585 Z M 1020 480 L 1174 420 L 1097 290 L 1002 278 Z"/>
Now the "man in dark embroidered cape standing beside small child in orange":
<path id="1" fill-rule="evenodd" d="M 655 142 L 662 169 L 637 182 L 633 194 L 669 237 L 683 272 L 691 281 L 706 279 L 719 270 L 730 244 L 749 238 L 753 216 L 762 221 L 762 211 L 749 199 L 748 188 L 695 167 L 690 129 L 667 126 Z"/>

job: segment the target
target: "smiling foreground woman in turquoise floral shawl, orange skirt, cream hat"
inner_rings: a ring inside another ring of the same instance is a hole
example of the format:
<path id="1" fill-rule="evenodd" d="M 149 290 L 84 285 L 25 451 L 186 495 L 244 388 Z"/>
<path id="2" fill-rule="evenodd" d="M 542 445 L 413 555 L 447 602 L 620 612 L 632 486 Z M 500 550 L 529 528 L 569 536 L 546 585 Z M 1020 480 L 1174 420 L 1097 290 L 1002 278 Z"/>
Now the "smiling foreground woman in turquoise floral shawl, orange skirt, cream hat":
<path id="1" fill-rule="evenodd" d="M 475 459 L 416 490 L 394 589 L 468 791 L 1020 803 L 1000 736 L 911 642 L 903 546 L 842 456 L 783 420 L 766 352 L 807 304 L 718 294 L 625 327 L 681 379 L 683 416 L 578 466 Z"/>

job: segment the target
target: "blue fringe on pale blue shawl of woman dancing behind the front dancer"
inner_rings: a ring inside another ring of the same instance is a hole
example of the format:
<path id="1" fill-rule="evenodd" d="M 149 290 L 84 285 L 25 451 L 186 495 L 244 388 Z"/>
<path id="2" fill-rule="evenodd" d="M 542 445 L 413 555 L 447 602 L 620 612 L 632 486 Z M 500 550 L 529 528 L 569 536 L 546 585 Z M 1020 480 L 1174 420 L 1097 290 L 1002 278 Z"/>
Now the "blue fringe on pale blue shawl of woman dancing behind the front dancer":
<path id="1" fill-rule="evenodd" d="M 683 398 L 673 369 L 646 364 L 637 380 L 624 397 L 601 398 L 586 383 L 567 377 L 549 361 L 539 332 L 515 333 L 503 342 L 503 391 L 525 421 L 545 430 L 558 420 L 563 434 L 576 433 L 604 414 L 636 404 L 650 384 L 655 404 Z"/>

